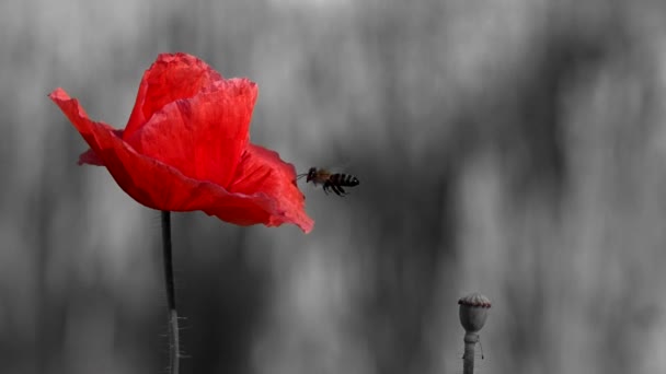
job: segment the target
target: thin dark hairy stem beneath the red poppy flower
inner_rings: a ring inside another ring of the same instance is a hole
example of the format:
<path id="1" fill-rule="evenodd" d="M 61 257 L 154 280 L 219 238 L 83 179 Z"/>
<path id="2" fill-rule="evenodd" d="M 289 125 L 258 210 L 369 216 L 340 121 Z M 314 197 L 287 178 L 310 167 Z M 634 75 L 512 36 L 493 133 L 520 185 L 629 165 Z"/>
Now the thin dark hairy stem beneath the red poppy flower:
<path id="1" fill-rule="evenodd" d="M 164 283 L 169 305 L 169 373 L 179 373 L 181 358 L 179 339 L 179 314 L 175 308 L 173 259 L 171 257 L 171 212 L 162 211 L 162 256 L 164 258 Z"/>

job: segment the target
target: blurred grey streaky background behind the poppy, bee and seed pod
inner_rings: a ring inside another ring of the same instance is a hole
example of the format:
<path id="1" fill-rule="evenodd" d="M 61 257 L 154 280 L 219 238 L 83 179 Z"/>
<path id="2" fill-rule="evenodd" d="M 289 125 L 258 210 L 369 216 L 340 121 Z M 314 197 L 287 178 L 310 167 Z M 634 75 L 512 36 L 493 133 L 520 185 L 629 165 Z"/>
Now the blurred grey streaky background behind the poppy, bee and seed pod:
<path id="1" fill-rule="evenodd" d="M 0 372 L 166 367 L 159 213 L 46 95 L 123 127 L 159 52 L 260 85 L 315 227 L 173 219 L 183 373 L 666 370 L 666 3 L 4 0 Z"/>

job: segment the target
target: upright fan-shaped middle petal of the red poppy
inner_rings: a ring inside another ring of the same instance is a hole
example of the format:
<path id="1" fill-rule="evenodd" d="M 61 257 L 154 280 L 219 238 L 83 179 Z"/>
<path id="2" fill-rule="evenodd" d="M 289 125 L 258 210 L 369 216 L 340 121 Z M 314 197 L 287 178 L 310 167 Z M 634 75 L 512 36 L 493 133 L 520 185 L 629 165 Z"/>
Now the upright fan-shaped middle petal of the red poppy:
<path id="1" fill-rule="evenodd" d="M 185 176 L 228 187 L 250 138 L 256 84 L 221 80 L 192 98 L 168 104 L 125 140 Z"/>

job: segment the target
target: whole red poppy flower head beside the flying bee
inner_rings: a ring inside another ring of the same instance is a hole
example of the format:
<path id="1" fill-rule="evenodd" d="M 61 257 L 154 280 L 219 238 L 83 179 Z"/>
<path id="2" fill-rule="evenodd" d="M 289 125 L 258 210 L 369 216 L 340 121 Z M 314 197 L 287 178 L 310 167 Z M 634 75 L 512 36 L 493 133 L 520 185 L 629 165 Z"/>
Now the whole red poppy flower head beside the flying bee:
<path id="1" fill-rule="evenodd" d="M 186 54 L 160 55 L 146 71 L 125 130 L 96 122 L 62 89 L 49 97 L 90 145 L 79 164 L 106 166 L 146 207 L 202 210 L 240 225 L 313 221 L 291 164 L 250 143 L 256 84 L 225 80 Z"/>

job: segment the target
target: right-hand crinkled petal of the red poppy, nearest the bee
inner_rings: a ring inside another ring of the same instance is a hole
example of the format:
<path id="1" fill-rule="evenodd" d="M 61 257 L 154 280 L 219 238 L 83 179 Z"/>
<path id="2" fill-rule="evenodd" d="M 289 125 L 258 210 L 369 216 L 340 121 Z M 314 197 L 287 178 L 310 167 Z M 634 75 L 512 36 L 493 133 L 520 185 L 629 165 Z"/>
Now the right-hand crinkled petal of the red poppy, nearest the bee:
<path id="1" fill-rule="evenodd" d="M 296 184 L 294 165 L 284 162 L 276 152 L 249 144 L 229 191 L 273 200 L 271 225 L 292 222 L 306 233 L 312 230 L 314 222 L 305 211 L 306 200 Z"/>

